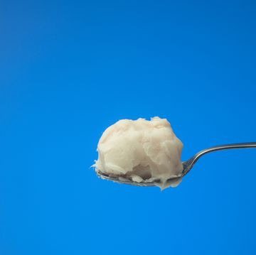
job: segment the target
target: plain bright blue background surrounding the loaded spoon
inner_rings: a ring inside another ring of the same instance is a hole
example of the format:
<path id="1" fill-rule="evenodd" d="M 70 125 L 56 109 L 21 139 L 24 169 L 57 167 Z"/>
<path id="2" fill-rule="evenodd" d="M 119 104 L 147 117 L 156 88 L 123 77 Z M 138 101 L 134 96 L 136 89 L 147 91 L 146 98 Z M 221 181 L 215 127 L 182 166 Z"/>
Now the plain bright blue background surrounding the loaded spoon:
<path id="1" fill-rule="evenodd" d="M 0 254 L 256 254 L 255 149 L 163 192 L 90 168 L 124 118 L 183 160 L 255 141 L 255 31 L 255 1 L 1 1 Z"/>

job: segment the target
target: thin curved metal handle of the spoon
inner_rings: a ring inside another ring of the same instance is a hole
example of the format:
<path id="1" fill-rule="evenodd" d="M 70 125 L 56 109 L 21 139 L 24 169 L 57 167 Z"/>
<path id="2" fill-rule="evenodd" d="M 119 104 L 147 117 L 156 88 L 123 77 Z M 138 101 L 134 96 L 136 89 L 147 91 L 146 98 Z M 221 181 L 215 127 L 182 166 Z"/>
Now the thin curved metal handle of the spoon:
<path id="1" fill-rule="evenodd" d="M 196 163 L 196 161 L 198 161 L 198 158 L 200 158 L 204 154 L 213 152 L 213 151 L 221 151 L 221 150 L 227 150 L 232 148 L 256 148 L 256 142 L 223 144 L 219 146 L 206 148 L 203 151 L 199 151 L 192 158 L 188 159 L 188 161 L 183 162 L 183 175 L 186 175 L 191 170 L 191 168 Z"/>

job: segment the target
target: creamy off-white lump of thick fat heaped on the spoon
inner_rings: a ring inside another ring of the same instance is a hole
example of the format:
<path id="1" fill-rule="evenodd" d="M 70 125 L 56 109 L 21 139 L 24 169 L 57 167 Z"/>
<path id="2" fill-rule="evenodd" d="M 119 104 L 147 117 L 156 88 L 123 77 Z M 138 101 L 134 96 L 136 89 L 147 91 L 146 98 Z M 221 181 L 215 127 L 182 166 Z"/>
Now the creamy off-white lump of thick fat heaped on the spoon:
<path id="1" fill-rule="evenodd" d="M 156 181 L 161 189 L 175 187 L 181 178 L 166 180 L 182 173 L 182 147 L 166 119 L 122 119 L 102 134 L 94 167 L 96 171 L 137 183 Z"/>

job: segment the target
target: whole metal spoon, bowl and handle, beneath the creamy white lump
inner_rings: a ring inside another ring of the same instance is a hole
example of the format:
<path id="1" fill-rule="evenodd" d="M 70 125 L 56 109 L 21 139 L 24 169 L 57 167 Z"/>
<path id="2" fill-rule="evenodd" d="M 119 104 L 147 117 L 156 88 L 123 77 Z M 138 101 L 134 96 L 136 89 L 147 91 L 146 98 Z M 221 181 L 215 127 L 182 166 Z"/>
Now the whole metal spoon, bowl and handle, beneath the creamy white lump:
<path id="1" fill-rule="evenodd" d="M 232 149 L 232 148 L 256 148 L 256 142 L 251 143 L 231 143 L 231 144 L 224 144 L 219 146 L 213 146 L 210 148 L 206 148 L 203 151 L 199 151 L 196 153 L 193 157 L 189 158 L 188 161 L 183 161 L 183 171 L 181 175 L 178 175 L 175 178 L 170 178 L 167 180 L 167 182 L 174 182 L 175 180 L 178 180 L 180 178 L 183 178 L 195 165 L 195 163 L 198 161 L 201 156 L 205 155 L 206 153 L 213 152 L 213 151 L 221 151 L 226 149 Z M 100 170 L 96 170 L 97 175 L 106 180 L 112 180 L 116 183 L 122 183 L 122 184 L 129 184 L 129 185 L 136 185 L 136 186 L 156 186 L 158 183 L 157 180 L 154 182 L 146 182 L 146 180 L 142 183 L 134 182 L 133 180 L 127 179 L 127 178 L 120 178 L 119 176 L 110 176 L 105 173 L 100 172 Z"/>

